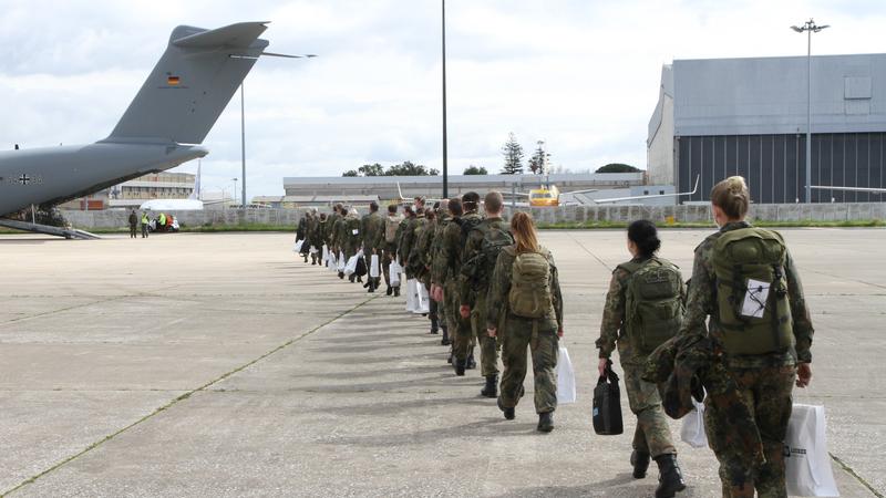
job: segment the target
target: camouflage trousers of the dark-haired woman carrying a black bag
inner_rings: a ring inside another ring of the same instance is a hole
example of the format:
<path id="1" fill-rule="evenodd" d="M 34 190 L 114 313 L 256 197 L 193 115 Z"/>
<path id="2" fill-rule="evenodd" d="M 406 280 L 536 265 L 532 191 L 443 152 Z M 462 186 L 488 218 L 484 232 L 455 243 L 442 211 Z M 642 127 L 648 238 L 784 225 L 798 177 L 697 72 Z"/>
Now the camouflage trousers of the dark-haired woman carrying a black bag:
<path id="1" fill-rule="evenodd" d="M 677 454 L 668 427 L 668 417 L 661 407 L 658 386 L 641 378 L 646 365 L 622 364 L 625 371 L 625 391 L 628 392 L 628 405 L 637 416 L 637 428 L 633 430 L 633 449 L 646 453 L 653 458 L 659 455 Z"/>

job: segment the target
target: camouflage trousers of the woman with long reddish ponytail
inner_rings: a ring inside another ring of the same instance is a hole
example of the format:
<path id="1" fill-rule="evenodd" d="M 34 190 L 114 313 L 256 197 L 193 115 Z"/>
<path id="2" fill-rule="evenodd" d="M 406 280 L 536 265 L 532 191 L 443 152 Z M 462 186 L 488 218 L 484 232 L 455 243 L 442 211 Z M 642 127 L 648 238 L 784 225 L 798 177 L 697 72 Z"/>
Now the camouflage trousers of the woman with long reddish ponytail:
<path id="1" fill-rule="evenodd" d="M 540 414 L 557 409 L 558 342 L 556 322 L 507 317 L 502 338 L 502 361 L 505 365 L 499 396 L 502 406 L 517 406 L 523 396 L 523 381 L 527 371 L 526 347 L 529 347 L 535 376 L 535 412 Z"/>

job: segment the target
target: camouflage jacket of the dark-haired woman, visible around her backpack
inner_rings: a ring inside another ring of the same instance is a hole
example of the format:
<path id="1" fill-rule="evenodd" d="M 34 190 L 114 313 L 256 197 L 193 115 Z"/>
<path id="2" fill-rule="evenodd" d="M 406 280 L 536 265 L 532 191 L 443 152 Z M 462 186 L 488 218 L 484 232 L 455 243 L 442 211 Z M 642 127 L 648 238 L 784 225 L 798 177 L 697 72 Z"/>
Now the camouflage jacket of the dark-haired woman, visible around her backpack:
<path id="1" fill-rule="evenodd" d="M 633 258 L 629 262 L 642 263 L 648 258 Z M 662 260 L 663 261 L 663 260 Z M 596 345 L 600 350 L 600 357 L 609 357 L 618 344 L 618 356 L 622 364 L 638 365 L 646 362 L 646 354 L 633 351 L 630 341 L 627 340 L 627 290 L 630 283 L 630 272 L 617 267 L 612 271 L 612 279 L 609 281 L 609 291 L 606 293 L 606 304 L 602 309 L 602 322 L 600 323 L 600 336 Z M 686 298 L 686 287 L 681 286 L 680 293 Z"/>

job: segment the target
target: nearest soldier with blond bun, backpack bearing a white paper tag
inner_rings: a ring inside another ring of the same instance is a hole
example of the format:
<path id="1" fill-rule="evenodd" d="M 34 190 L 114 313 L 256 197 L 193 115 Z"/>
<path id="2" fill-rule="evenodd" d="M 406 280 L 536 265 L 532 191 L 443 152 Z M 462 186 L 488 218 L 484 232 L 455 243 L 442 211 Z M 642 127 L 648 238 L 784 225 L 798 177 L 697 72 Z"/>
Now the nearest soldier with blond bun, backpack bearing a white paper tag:
<path id="1" fill-rule="evenodd" d="M 720 461 L 724 497 L 786 496 L 784 438 L 794 384 L 812 378 L 813 328 L 800 277 L 775 231 L 745 221 L 750 191 L 733 176 L 711 190 L 720 230 L 696 249 L 681 334 L 708 334 L 753 414 L 765 463 L 752 465 L 734 444 L 730 411 L 705 401 L 708 440 Z M 705 322 L 710 317 L 709 330 Z M 709 394 L 718 394 L 711 393 Z M 753 430 L 752 430 L 753 432 Z M 743 434 L 748 434 L 744 430 Z"/>

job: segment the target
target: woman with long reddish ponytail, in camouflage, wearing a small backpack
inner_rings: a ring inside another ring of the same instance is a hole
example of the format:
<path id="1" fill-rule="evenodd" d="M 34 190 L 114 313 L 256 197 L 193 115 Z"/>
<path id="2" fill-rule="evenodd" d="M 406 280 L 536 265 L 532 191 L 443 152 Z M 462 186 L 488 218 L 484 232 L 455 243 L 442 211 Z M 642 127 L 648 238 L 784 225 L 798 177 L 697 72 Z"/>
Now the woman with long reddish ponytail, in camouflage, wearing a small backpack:
<path id="1" fill-rule="evenodd" d="M 563 336 L 563 298 L 550 251 L 538 243 L 533 218 L 517 212 L 511 221 L 514 245 L 498 255 L 488 293 L 487 333 L 501 332 L 502 375 L 498 408 L 515 417 L 526 377 L 526 347 L 533 356 L 538 430 L 554 429 L 557 408 L 557 342 Z M 499 324 L 501 331 L 499 331 Z"/>

